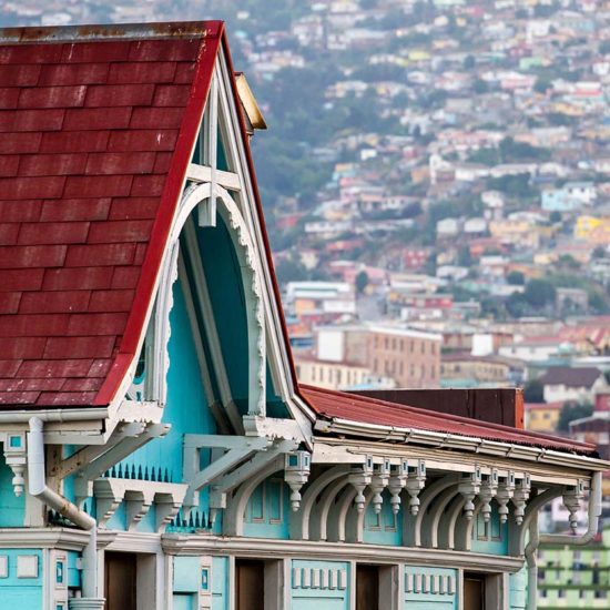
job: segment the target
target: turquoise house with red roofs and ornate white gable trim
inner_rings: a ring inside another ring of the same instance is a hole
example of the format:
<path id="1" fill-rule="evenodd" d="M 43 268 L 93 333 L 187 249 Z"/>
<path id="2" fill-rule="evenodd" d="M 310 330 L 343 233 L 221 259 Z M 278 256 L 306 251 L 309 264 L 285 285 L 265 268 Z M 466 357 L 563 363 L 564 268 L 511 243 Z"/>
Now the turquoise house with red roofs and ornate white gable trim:
<path id="1" fill-rule="evenodd" d="M 0 608 L 525 608 L 608 464 L 298 385 L 223 24 L 0 38 Z"/>

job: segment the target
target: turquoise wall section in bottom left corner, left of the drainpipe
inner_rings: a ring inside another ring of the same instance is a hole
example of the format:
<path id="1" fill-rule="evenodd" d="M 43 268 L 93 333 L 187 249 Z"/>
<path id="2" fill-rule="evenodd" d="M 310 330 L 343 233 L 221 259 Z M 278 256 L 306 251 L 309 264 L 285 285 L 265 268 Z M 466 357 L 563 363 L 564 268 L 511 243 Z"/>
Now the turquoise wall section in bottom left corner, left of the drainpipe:
<path id="1" fill-rule="evenodd" d="M 20 557 L 35 557 L 37 576 L 19 578 L 17 567 Z M 0 608 L 42 608 L 42 552 L 37 549 L 0 549 L 0 561 L 7 558 L 7 577 L 0 578 Z"/>

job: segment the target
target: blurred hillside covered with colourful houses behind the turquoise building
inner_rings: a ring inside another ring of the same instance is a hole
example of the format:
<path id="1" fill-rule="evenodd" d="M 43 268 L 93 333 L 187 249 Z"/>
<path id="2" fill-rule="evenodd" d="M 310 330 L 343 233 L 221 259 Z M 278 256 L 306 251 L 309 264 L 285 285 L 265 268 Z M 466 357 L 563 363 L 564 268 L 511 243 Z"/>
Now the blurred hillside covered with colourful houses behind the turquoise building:
<path id="1" fill-rule="evenodd" d="M 610 459 L 610 2 L 0 6 L 3 26 L 211 17 L 270 128 L 253 150 L 301 382 L 521 386 L 530 429 Z M 597 559 L 542 549 L 540 608 L 606 607 L 609 531 Z"/>

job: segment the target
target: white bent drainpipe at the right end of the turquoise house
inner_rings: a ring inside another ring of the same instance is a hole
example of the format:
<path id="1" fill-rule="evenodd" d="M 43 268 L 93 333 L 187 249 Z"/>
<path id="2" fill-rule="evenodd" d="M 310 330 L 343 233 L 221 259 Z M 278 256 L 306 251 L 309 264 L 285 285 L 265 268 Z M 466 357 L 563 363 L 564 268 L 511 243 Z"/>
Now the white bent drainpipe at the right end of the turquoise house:
<path id="1" fill-rule="evenodd" d="M 593 472 L 591 477 L 591 492 L 589 495 L 589 525 L 587 531 L 580 536 L 571 533 L 542 533 L 538 531 L 538 515 L 532 519 L 529 530 L 529 542 L 525 556 L 528 566 L 528 610 L 536 610 L 538 598 L 538 562 L 536 552 L 540 542 L 546 545 L 588 545 L 598 533 L 601 516 L 601 472 Z"/>

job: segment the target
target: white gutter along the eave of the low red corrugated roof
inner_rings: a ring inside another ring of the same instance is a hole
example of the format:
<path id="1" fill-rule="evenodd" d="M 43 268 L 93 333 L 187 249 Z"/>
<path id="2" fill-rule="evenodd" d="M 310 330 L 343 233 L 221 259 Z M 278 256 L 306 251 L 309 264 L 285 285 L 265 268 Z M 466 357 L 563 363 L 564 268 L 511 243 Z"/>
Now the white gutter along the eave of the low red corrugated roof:
<path id="1" fill-rule="evenodd" d="M 486 440 L 479 437 L 467 437 L 449 433 L 435 433 L 417 428 L 397 428 L 378 424 L 364 424 L 342 418 L 333 418 L 331 420 L 317 419 L 314 429 L 324 434 L 367 436 L 378 440 L 401 444 L 416 443 L 435 448 L 458 449 L 571 468 L 579 466 L 590 470 L 604 470 L 610 466 L 609 462 L 597 458 L 562 453 L 560 450 Z"/>

